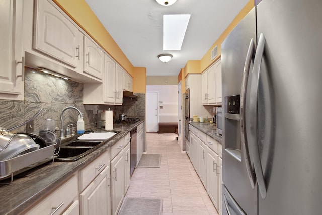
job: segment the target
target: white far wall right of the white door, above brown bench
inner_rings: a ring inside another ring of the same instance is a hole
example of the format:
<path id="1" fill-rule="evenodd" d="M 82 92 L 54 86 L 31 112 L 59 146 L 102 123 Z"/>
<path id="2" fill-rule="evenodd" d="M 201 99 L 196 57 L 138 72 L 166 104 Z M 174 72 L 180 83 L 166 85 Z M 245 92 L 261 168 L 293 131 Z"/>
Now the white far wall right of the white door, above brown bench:
<path id="1" fill-rule="evenodd" d="M 159 93 L 159 122 L 178 122 L 178 85 L 147 85 L 146 92 Z"/>

